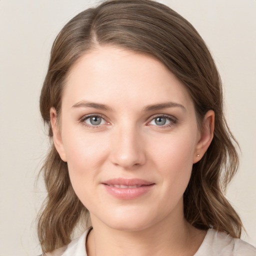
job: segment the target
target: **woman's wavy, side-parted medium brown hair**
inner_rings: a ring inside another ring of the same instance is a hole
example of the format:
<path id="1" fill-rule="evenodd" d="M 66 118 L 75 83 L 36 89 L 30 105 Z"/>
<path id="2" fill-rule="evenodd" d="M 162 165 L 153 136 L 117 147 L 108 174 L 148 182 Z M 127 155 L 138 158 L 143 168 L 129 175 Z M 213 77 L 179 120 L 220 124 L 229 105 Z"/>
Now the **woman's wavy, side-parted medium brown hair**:
<path id="1" fill-rule="evenodd" d="M 71 186 L 66 162 L 52 143 L 50 107 L 61 111 L 65 78 L 84 53 L 95 45 L 116 45 L 160 60 L 189 92 L 200 127 L 204 114 L 215 112 L 212 142 L 193 164 L 183 195 L 184 216 L 193 226 L 209 226 L 233 237 L 241 220 L 223 195 L 236 172 L 238 156 L 223 116 L 221 81 L 204 41 L 194 27 L 169 7 L 151 0 L 109 0 L 72 18 L 57 35 L 40 95 L 40 111 L 49 128 L 50 151 L 42 166 L 47 198 L 38 217 L 42 250 L 67 244 L 79 220 L 88 216 Z"/>

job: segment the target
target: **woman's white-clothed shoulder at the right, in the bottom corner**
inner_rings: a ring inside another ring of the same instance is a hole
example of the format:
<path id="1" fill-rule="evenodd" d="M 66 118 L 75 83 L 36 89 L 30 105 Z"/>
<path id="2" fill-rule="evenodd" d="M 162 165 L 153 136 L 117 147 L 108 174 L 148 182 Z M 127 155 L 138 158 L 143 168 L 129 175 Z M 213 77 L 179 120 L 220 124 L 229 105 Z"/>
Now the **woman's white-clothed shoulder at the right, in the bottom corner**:
<path id="1" fill-rule="evenodd" d="M 194 256 L 256 256 L 256 248 L 249 243 L 232 236 L 208 229 L 205 238 Z"/>

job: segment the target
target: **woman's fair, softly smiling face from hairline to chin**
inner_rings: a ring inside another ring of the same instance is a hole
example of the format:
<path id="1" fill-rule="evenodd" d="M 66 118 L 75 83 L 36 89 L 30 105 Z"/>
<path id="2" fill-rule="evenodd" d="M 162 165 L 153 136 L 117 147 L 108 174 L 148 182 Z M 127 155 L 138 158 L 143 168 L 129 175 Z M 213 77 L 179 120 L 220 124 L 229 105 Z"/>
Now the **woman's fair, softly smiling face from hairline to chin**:
<path id="1" fill-rule="evenodd" d="M 55 146 L 92 224 L 139 230 L 183 218 L 201 134 L 190 96 L 161 62 L 113 46 L 84 54 L 59 126 L 55 117 L 51 109 Z"/>

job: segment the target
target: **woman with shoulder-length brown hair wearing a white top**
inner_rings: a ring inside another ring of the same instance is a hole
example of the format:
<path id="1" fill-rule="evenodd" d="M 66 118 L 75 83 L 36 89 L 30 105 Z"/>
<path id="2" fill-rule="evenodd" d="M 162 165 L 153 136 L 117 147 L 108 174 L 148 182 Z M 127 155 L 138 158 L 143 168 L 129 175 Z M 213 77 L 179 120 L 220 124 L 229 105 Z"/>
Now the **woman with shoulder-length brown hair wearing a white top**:
<path id="1" fill-rule="evenodd" d="M 149 0 L 79 13 L 53 43 L 40 110 L 46 255 L 255 255 L 222 194 L 238 156 L 219 75 L 179 14 Z"/>

